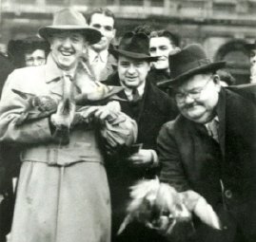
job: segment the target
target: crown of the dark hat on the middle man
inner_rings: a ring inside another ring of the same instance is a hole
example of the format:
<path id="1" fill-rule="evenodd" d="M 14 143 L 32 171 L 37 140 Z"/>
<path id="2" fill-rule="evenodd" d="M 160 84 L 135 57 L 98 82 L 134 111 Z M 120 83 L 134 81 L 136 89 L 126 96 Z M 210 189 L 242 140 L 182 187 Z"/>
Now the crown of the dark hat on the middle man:
<path id="1" fill-rule="evenodd" d="M 149 57 L 148 36 L 145 33 L 127 32 L 121 39 L 118 49 Z"/>

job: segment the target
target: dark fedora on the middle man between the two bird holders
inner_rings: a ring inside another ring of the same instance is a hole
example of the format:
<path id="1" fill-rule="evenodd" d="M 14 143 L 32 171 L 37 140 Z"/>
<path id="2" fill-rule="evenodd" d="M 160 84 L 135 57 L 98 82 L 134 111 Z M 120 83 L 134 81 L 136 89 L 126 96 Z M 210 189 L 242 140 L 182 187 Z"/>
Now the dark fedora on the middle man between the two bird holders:
<path id="1" fill-rule="evenodd" d="M 118 48 L 108 49 L 114 56 L 125 56 L 137 60 L 155 62 L 158 57 L 149 55 L 149 39 L 145 33 L 127 32 L 120 41 Z"/>

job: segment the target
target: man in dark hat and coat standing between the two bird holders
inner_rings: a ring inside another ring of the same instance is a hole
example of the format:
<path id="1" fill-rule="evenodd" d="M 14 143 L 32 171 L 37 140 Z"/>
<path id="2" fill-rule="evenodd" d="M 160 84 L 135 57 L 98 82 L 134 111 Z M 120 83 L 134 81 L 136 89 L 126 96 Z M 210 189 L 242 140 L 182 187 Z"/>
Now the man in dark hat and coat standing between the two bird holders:
<path id="1" fill-rule="evenodd" d="M 118 164 L 109 167 L 113 213 L 112 241 L 159 241 L 155 234 L 146 232 L 145 228 L 137 224 L 128 226 L 124 233 L 116 236 L 126 216 L 128 188 L 138 179 L 155 176 L 158 168 L 155 151 L 157 135 L 161 126 L 166 121 L 173 120 L 177 114 L 176 107 L 167 94 L 148 82 L 150 62 L 157 59 L 149 56 L 148 49 L 146 34 L 128 32 L 122 38 L 118 49 L 112 50 L 118 58 L 117 72 L 108 77 L 107 84 L 124 87 L 124 91 L 119 94 L 119 98 L 123 100 L 120 101 L 121 109 L 137 121 L 137 143 L 142 145 L 141 149 L 136 150 L 135 146 L 133 151 L 122 153 L 123 157 L 117 158 Z"/>

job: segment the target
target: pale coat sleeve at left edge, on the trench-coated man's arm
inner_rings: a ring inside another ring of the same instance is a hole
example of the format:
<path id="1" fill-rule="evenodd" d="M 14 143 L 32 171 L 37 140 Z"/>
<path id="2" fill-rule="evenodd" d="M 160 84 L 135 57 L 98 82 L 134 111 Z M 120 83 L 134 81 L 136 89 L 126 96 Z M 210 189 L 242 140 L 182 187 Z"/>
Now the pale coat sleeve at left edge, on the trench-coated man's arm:
<path id="1" fill-rule="evenodd" d="M 26 111 L 28 101 L 11 91 L 23 90 L 25 83 L 20 72 L 12 72 L 4 86 L 0 102 L 0 141 L 11 143 L 40 143 L 52 140 L 49 119 L 26 122 L 20 126 L 15 121 Z"/>

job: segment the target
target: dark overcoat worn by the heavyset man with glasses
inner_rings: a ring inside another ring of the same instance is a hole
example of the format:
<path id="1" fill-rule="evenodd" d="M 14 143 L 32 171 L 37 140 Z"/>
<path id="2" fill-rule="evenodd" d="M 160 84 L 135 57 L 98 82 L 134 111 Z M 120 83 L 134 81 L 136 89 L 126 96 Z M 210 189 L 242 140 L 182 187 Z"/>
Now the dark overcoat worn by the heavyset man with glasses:
<path id="1" fill-rule="evenodd" d="M 256 108 L 222 89 L 217 114 L 219 143 L 204 124 L 181 115 L 163 126 L 158 137 L 161 180 L 178 191 L 198 192 L 219 212 L 224 230 L 205 227 L 202 241 L 256 241 Z"/>

